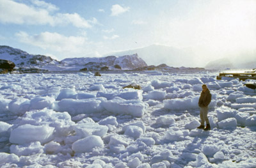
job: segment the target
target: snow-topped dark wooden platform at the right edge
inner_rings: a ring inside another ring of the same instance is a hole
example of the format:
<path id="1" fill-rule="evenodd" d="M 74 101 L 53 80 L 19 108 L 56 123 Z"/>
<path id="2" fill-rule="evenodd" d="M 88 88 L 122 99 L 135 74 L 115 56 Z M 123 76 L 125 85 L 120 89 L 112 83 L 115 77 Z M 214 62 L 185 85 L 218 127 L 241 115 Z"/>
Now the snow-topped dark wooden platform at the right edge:
<path id="1" fill-rule="evenodd" d="M 256 68 L 250 70 L 225 70 L 220 72 L 220 75 L 217 76 L 218 80 L 221 80 L 222 77 L 232 77 L 239 78 L 239 80 L 246 79 L 255 79 L 256 80 Z"/>

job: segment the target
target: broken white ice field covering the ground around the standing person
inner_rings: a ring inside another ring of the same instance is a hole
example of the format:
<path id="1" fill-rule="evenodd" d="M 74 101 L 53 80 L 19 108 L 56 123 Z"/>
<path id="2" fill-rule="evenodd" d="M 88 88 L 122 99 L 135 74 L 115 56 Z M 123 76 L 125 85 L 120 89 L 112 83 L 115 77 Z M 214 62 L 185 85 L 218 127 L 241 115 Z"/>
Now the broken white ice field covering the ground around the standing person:
<path id="1" fill-rule="evenodd" d="M 256 91 L 216 75 L 0 75 L 0 167 L 256 167 Z"/>

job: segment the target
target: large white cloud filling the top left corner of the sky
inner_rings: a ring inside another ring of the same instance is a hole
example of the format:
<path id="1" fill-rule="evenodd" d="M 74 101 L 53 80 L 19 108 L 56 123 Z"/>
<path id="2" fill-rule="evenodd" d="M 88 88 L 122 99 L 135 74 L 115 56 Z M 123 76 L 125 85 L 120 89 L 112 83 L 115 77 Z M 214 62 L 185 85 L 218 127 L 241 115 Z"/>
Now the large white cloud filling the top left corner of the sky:
<path id="1" fill-rule="evenodd" d="M 44 1 L 32 0 L 34 6 L 17 3 L 12 0 L 0 0 L 0 22 L 4 24 L 29 24 L 29 25 L 51 25 L 62 26 L 72 24 L 79 28 L 92 27 L 98 24 L 97 19 L 85 20 L 77 13 L 56 13 L 56 6 Z"/>

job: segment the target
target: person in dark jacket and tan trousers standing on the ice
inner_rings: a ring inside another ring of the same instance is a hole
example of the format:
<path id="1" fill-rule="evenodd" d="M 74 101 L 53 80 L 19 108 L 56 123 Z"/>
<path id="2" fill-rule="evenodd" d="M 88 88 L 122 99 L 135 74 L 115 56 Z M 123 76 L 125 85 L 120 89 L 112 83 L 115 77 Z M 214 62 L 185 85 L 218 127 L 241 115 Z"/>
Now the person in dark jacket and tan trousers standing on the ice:
<path id="1" fill-rule="evenodd" d="M 200 119 L 201 119 L 201 125 L 198 126 L 198 129 L 204 129 L 204 130 L 211 130 L 211 126 L 208 119 L 208 110 L 209 110 L 209 103 L 211 102 L 212 95 L 207 88 L 206 84 L 202 85 L 202 92 L 198 101 L 198 105 L 200 107 Z M 204 122 L 206 122 L 206 127 L 204 128 Z"/>

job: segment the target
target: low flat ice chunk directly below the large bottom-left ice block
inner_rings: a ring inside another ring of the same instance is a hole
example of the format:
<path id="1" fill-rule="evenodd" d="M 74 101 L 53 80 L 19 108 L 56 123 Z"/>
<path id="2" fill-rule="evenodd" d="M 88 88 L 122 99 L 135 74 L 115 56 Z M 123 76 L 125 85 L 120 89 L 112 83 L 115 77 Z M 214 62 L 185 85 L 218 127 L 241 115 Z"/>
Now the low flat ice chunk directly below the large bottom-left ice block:
<path id="1" fill-rule="evenodd" d="M 20 145 L 12 144 L 10 146 L 10 152 L 14 153 L 19 157 L 29 156 L 29 155 L 34 155 L 36 153 L 44 153 L 44 147 L 40 144 L 40 142 L 31 142 L 29 144 L 20 144 Z"/>

